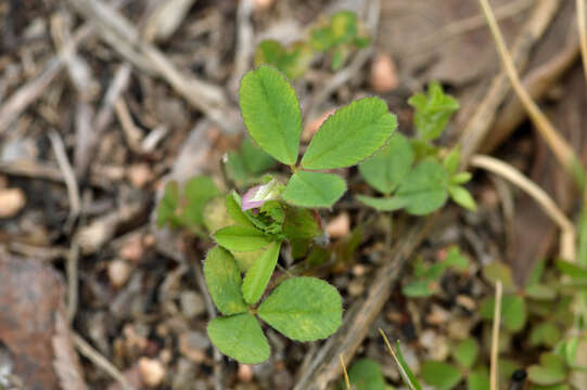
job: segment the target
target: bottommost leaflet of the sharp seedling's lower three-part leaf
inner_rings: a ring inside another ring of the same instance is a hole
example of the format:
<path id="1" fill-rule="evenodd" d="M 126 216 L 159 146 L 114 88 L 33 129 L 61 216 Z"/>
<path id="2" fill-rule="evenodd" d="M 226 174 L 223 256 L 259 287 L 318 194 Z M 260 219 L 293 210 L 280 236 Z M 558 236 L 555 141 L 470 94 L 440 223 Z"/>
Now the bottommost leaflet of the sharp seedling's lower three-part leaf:
<path id="1" fill-rule="evenodd" d="M 269 359 L 269 342 L 251 314 L 216 317 L 209 322 L 207 330 L 220 352 L 243 364 L 257 364 Z"/>

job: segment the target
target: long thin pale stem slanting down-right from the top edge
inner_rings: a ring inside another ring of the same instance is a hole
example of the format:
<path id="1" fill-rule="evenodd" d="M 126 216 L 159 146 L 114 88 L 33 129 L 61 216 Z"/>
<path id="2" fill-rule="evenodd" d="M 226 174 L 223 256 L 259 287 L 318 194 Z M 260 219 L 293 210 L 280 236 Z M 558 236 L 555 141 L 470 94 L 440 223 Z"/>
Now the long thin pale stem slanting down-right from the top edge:
<path id="1" fill-rule="evenodd" d="M 506 47 L 506 42 L 503 41 L 503 37 L 501 36 L 501 31 L 489 2 L 487 0 L 478 0 L 478 2 L 483 9 L 485 17 L 487 18 L 489 29 L 497 47 L 497 52 L 499 53 L 501 62 L 503 63 L 506 74 L 512 83 L 513 90 L 524 104 L 524 107 L 528 112 L 528 115 L 536 126 L 536 129 L 545 138 L 546 142 L 554 153 L 554 156 L 557 156 L 559 162 L 564 169 L 566 169 L 567 172 L 572 174 L 573 178 L 575 178 L 575 167 L 579 159 L 576 157 L 571 145 L 558 133 L 554 126 L 552 126 L 547 116 L 540 110 L 540 108 L 538 108 L 536 103 L 532 100 L 527 91 L 522 86 L 520 77 L 518 76 L 518 70 L 515 69 L 515 65 L 513 64 L 510 53 L 508 52 L 508 48 Z"/>

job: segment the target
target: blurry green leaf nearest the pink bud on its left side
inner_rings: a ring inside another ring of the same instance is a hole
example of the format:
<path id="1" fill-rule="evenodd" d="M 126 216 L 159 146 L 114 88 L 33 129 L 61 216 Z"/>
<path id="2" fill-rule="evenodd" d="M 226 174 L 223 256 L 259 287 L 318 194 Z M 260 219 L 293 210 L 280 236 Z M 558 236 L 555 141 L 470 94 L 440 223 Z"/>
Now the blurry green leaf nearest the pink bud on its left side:
<path id="1" fill-rule="evenodd" d="M 209 199 L 220 195 L 220 191 L 209 177 L 195 177 L 186 183 L 186 208 L 181 213 L 183 223 L 200 225 L 204 222 L 204 207 Z"/>

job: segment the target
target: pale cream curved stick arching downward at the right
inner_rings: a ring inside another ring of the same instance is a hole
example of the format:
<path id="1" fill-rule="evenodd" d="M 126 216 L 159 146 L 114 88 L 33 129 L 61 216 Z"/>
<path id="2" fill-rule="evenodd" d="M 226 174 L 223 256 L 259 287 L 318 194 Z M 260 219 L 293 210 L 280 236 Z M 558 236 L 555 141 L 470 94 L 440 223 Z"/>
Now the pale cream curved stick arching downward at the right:
<path id="1" fill-rule="evenodd" d="M 543 208 L 545 213 L 557 223 L 561 230 L 561 257 L 575 261 L 576 248 L 575 248 L 575 226 L 573 222 L 566 218 L 564 212 L 559 209 L 554 200 L 532 180 L 522 174 L 518 169 L 512 166 L 489 156 L 475 155 L 471 157 L 470 164 L 475 168 L 483 168 L 489 172 L 496 173 L 503 179 L 508 180 L 512 184 L 520 187 L 526 194 L 528 194 L 536 203 Z"/>

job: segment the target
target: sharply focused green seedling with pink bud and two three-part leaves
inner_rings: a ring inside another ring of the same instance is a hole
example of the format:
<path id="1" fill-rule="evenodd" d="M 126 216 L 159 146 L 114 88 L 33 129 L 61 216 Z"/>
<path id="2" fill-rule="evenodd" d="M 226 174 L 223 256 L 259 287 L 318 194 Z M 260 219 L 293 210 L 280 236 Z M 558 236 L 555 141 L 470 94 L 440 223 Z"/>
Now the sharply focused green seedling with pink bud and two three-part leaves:
<path id="1" fill-rule="evenodd" d="M 257 317 L 297 341 L 327 338 L 341 325 L 341 296 L 324 281 L 291 277 L 264 299 L 265 292 L 285 244 L 311 245 L 322 235 L 315 209 L 331 208 L 346 191 L 341 177 L 323 170 L 367 159 L 385 145 L 397 122 L 380 99 L 353 102 L 322 123 L 298 162 L 302 113 L 285 77 L 259 66 L 243 77 L 239 98 L 252 140 L 292 172 L 286 183 L 267 177 L 242 197 L 227 195 L 234 223 L 213 234 L 217 246 L 204 262 L 208 290 L 222 314 L 208 324 L 208 336 L 220 352 L 255 364 L 270 354 Z M 253 251 L 251 263 L 238 262 L 240 253 Z"/>

